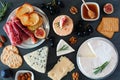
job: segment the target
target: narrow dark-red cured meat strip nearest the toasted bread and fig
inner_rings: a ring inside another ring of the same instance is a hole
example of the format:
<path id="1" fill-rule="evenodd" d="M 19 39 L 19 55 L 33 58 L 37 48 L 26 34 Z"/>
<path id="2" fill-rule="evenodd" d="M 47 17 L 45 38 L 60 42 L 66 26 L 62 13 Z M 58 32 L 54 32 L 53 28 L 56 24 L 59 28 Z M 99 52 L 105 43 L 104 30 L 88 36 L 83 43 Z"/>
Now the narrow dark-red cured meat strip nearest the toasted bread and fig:
<path id="1" fill-rule="evenodd" d="M 34 36 L 34 34 L 27 29 L 27 27 L 24 27 L 19 20 L 15 20 L 15 23 L 27 34 L 31 37 L 32 42 L 35 44 L 37 43 L 38 39 Z"/>

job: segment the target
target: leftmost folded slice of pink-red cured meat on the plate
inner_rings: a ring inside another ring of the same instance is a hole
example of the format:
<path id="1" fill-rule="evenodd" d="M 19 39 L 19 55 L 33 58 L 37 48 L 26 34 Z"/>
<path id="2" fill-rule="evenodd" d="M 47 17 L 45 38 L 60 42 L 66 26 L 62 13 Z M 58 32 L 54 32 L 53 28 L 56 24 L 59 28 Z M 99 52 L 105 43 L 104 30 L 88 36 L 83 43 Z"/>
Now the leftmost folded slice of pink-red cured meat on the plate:
<path id="1" fill-rule="evenodd" d="M 3 27 L 3 29 L 7 33 L 12 45 L 16 46 L 22 43 L 22 40 L 20 39 L 19 35 L 15 32 L 11 21 L 8 21 Z"/>

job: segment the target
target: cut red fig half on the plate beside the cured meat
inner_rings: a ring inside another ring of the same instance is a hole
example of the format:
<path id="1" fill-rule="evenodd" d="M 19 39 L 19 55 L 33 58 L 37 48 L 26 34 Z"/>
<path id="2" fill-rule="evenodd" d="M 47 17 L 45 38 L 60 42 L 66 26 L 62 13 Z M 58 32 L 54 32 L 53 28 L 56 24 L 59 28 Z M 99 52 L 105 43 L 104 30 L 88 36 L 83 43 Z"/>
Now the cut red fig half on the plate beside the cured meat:
<path id="1" fill-rule="evenodd" d="M 46 32 L 42 27 L 39 27 L 38 29 L 36 29 L 34 34 L 35 34 L 35 37 L 38 39 L 44 39 L 46 37 Z"/>

